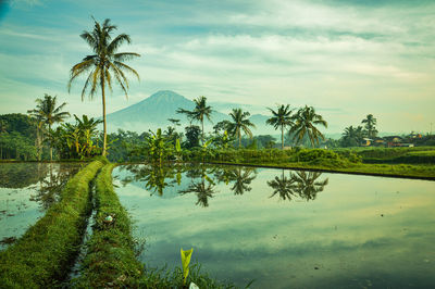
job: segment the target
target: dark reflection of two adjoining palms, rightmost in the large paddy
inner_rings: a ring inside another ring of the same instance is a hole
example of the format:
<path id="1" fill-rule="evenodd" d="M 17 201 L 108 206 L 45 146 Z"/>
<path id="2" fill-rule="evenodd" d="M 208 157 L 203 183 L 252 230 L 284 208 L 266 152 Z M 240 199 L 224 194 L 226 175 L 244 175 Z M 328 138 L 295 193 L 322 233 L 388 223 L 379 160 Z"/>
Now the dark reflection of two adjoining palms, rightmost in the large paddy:
<path id="1" fill-rule="evenodd" d="M 278 196 L 282 200 L 291 200 L 293 197 L 299 197 L 307 201 L 314 200 L 319 192 L 323 191 L 328 184 L 328 178 L 318 180 L 322 173 L 318 172 L 290 172 L 289 177 L 276 176 L 273 180 L 268 181 L 268 185 L 273 189 L 270 198 Z"/>

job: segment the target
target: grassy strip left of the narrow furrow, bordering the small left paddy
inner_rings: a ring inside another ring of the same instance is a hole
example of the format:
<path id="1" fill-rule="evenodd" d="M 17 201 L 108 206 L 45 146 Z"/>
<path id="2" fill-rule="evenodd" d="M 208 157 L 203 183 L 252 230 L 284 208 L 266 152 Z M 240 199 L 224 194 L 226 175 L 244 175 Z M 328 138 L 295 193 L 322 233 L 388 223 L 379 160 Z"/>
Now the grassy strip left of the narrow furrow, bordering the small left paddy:
<path id="1" fill-rule="evenodd" d="M 63 189 L 61 201 L 0 252 L 1 288 L 48 288 L 65 277 L 91 209 L 89 181 L 102 166 L 94 161 L 78 172 Z"/>

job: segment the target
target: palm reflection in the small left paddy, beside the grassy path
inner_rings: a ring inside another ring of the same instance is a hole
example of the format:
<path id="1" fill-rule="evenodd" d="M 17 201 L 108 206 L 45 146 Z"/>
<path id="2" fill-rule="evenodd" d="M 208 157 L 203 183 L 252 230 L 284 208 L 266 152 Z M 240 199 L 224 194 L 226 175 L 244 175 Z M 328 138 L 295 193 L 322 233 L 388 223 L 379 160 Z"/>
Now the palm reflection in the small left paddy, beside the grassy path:
<path id="1" fill-rule="evenodd" d="M 39 186 L 36 187 L 36 194 L 30 197 L 32 201 L 37 201 L 41 210 L 47 210 L 61 198 L 61 192 L 66 183 L 80 168 L 79 165 L 70 164 L 47 164 L 48 174 L 41 178 Z"/>

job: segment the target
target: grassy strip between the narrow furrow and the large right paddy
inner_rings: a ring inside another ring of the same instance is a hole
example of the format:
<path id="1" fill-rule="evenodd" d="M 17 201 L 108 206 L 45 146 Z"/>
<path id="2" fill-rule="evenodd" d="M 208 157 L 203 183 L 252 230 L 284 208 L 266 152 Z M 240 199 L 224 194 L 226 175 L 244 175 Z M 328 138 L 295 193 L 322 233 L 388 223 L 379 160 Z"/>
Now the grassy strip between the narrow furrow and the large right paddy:
<path id="1" fill-rule="evenodd" d="M 113 166 L 105 165 L 96 179 L 97 214 L 82 276 L 74 281 L 78 288 L 137 287 L 142 274 L 134 252 L 130 219 L 113 191 Z"/>

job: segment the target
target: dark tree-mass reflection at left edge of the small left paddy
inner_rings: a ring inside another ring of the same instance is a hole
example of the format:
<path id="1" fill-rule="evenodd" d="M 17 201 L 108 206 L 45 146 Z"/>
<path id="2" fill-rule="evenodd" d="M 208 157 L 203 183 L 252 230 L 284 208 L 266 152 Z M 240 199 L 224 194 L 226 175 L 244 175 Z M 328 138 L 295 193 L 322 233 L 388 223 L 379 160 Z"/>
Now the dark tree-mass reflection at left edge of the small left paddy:
<path id="1" fill-rule="evenodd" d="M 44 179 L 48 166 L 42 163 L 0 164 L 0 188 L 25 188 Z"/>

